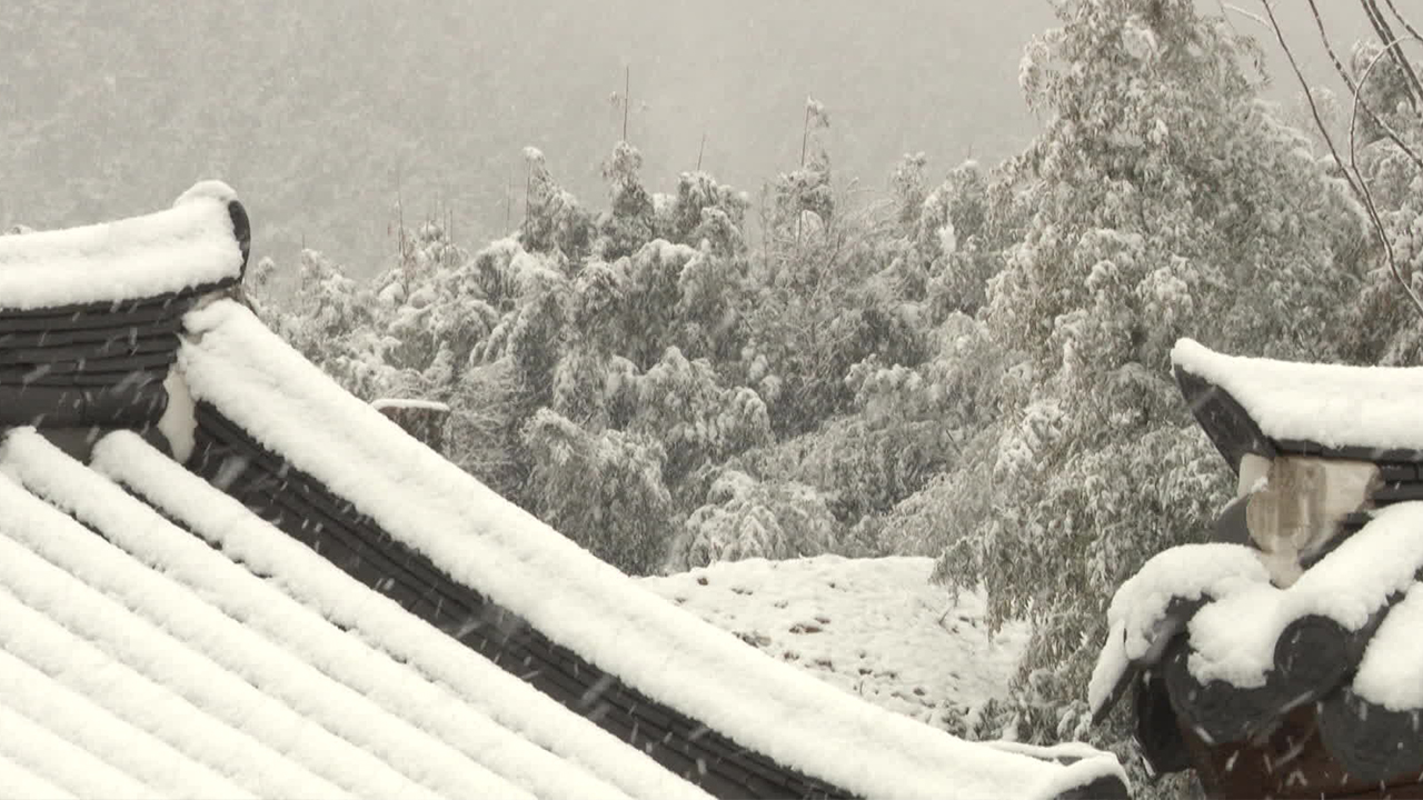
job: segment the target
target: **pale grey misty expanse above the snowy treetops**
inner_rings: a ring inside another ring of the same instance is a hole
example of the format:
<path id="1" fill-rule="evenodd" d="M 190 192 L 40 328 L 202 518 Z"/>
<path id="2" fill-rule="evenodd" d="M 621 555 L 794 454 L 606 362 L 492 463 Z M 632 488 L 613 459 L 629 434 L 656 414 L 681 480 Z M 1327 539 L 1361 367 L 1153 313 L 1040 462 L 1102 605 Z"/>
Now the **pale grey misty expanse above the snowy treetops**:
<path id="1" fill-rule="evenodd" d="M 1355 3 L 1322 4 L 1345 47 L 1366 33 Z M 1328 78 L 1302 6 L 1281 7 Z M 139 214 L 218 177 L 256 252 L 306 242 L 370 273 L 394 251 L 397 181 L 407 222 L 450 214 L 471 246 L 518 222 L 524 145 L 601 206 L 625 70 L 653 191 L 704 135 L 703 167 L 757 195 L 795 167 L 807 95 L 838 178 L 882 191 L 905 152 L 941 175 L 1020 151 L 1019 58 L 1053 21 L 1046 0 L 26 0 L 0 13 L 0 225 Z"/>

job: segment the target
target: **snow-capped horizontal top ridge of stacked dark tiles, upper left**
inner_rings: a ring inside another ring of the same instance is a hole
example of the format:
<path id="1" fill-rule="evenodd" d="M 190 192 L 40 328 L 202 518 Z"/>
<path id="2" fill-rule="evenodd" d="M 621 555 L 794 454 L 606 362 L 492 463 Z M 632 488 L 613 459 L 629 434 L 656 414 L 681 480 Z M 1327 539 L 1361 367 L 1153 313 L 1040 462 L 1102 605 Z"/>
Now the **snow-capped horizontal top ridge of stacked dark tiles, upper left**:
<path id="1" fill-rule="evenodd" d="M 148 216 L 0 236 L 0 426 L 158 421 L 182 315 L 240 280 L 249 238 L 216 181 Z"/>

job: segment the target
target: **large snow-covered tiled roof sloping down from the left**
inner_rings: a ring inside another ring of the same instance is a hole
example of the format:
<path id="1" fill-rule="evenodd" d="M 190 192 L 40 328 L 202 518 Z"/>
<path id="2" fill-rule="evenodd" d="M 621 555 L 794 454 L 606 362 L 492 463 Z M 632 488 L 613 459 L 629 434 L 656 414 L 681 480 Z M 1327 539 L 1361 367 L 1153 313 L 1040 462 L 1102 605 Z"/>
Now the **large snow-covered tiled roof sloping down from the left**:
<path id="1" fill-rule="evenodd" d="M 1111 756 L 955 739 L 598 561 L 228 296 L 246 215 L 185 196 L 0 239 L 0 796 L 1126 794 Z M 127 383 L 85 350 L 145 340 Z M 61 363 L 85 381 L 34 380 Z"/>

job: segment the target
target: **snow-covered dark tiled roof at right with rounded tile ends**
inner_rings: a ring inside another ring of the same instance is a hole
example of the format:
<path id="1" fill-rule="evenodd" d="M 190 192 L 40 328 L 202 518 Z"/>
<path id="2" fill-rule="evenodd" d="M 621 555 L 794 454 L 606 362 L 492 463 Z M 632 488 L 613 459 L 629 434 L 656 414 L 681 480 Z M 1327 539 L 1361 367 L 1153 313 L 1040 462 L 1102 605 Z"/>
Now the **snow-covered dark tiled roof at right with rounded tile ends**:
<path id="1" fill-rule="evenodd" d="M 1197 420 L 1237 471 L 1247 454 L 1306 457 L 1373 463 L 1382 480 L 1288 579 L 1241 530 L 1244 487 L 1222 514 L 1234 531 L 1218 538 L 1232 541 L 1150 559 L 1113 598 L 1090 686 L 1096 717 L 1134 690 L 1137 737 L 1158 772 L 1185 769 L 1195 753 L 1225 773 L 1241 753 L 1264 753 L 1259 786 L 1276 794 L 1414 783 L 1423 502 L 1412 498 L 1423 497 L 1423 417 L 1410 394 L 1423 370 L 1241 359 L 1194 342 L 1173 357 Z M 1261 769 L 1255 760 L 1244 769 Z"/>

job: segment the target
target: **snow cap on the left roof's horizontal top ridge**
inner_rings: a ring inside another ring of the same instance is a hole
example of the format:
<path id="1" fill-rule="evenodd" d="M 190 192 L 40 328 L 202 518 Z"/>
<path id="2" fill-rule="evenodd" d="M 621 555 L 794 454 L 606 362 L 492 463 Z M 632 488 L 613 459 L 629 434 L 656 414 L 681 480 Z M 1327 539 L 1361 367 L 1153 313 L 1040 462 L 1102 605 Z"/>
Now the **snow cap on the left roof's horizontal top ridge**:
<path id="1" fill-rule="evenodd" d="M 242 249 L 228 214 L 235 196 L 208 181 L 168 211 L 0 236 L 0 307 L 132 300 L 236 279 Z"/>

